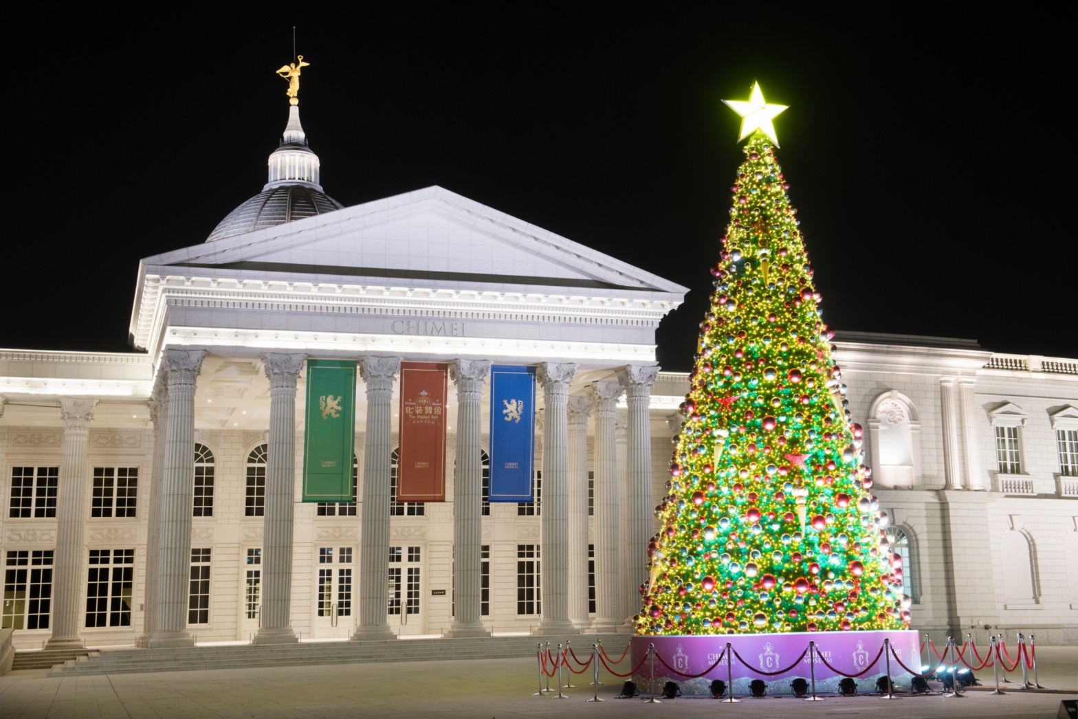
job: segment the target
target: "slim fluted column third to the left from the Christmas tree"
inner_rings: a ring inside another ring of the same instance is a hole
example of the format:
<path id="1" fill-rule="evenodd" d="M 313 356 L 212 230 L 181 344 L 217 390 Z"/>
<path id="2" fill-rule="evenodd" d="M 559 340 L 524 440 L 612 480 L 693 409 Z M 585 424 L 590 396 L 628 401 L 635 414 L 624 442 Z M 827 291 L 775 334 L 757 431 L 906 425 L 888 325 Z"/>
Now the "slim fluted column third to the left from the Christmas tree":
<path id="1" fill-rule="evenodd" d="M 588 626 L 588 415 L 586 397 L 569 397 L 569 620 Z"/>

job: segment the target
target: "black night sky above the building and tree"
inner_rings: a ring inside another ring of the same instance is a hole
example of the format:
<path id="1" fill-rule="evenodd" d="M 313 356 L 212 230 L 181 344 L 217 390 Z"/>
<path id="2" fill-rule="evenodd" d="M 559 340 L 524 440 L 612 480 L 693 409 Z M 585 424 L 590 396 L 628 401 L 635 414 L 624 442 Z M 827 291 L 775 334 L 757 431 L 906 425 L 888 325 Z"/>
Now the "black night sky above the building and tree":
<path id="1" fill-rule="evenodd" d="M 130 350 L 138 261 L 265 183 L 294 26 L 330 196 L 438 184 L 691 288 L 663 369 L 691 367 L 743 158 L 721 100 L 754 80 L 790 106 L 777 157 L 840 336 L 1078 358 L 1074 61 L 1036 5 L 37 6 L 6 26 L 0 347 Z"/>

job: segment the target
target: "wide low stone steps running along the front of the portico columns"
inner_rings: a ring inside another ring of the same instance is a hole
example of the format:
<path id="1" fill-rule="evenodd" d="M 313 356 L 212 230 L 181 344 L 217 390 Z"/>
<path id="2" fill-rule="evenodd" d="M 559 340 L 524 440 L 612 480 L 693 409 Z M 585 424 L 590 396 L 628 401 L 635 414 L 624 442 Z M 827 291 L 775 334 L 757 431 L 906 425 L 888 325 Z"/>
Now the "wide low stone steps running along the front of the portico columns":
<path id="1" fill-rule="evenodd" d="M 603 647 L 607 654 L 620 658 L 628 645 L 628 635 L 607 635 Z M 142 649 L 112 647 L 88 650 L 53 665 L 49 676 L 87 676 L 132 674 L 136 672 L 184 672 L 241 669 L 258 666 L 310 664 L 361 664 L 364 662 L 425 662 L 471 659 L 519 659 L 535 656 L 537 645 L 550 641 L 551 651 L 566 637 L 513 636 L 430 639 L 385 639 L 374 641 L 303 641 L 282 645 L 225 645 Z M 573 653 L 588 661 L 595 635 L 569 637 Z M 24 652 L 18 652 L 19 654 Z M 40 654 L 42 652 L 25 652 Z M 16 659 L 18 662 L 18 659 Z M 18 666 L 13 668 L 31 668 Z"/>

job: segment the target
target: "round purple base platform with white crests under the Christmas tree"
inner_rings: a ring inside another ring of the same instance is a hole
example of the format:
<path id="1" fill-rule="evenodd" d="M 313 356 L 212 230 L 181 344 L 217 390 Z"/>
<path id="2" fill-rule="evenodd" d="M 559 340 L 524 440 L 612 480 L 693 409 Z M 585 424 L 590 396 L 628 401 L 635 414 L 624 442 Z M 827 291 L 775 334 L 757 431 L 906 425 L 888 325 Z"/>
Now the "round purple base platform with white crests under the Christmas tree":
<path id="1" fill-rule="evenodd" d="M 790 694 L 790 682 L 802 678 L 810 682 L 810 691 L 815 679 L 817 693 L 839 693 L 839 681 L 843 677 L 865 672 L 854 677 L 857 691 L 872 693 L 879 692 L 876 680 L 887 673 L 888 653 L 880 652 L 884 639 L 890 640 L 895 651 L 890 655 L 890 678 L 895 689 L 908 690 L 912 676 L 899 665 L 895 655 L 911 669 L 921 670 L 915 630 L 634 636 L 630 639 L 632 666 L 639 664 L 640 668 L 633 680 L 641 693 L 661 693 L 665 682 L 674 681 L 682 694 L 709 694 L 711 679 L 721 679 L 728 685 L 732 679 L 733 694 L 737 696 L 749 694 L 749 682 L 754 679 L 764 681 L 769 695 Z M 812 661 L 807 651 L 810 641 L 815 642 Z M 732 663 L 728 661 L 729 655 L 719 661 L 727 642 L 731 646 Z M 651 682 L 652 663 L 647 660 L 651 644 L 655 646 L 654 685 Z M 716 661 L 719 663 L 710 672 L 695 676 Z"/>

